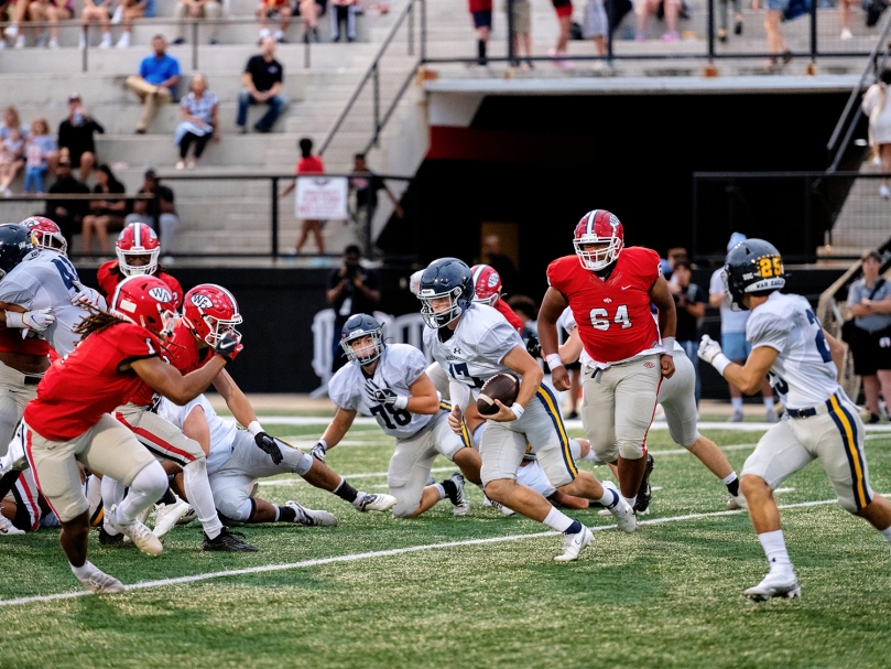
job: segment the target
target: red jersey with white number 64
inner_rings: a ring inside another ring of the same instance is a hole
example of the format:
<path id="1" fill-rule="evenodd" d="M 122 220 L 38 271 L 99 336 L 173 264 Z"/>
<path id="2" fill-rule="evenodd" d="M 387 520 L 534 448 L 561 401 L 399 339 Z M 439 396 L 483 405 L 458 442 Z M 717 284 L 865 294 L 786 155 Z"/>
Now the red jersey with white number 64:
<path id="1" fill-rule="evenodd" d="M 650 290 L 661 274 L 659 253 L 639 246 L 619 253 L 606 280 L 582 267 L 578 256 L 557 258 L 547 267 L 550 285 L 569 302 L 585 352 L 596 363 L 661 350 L 650 312 Z"/>

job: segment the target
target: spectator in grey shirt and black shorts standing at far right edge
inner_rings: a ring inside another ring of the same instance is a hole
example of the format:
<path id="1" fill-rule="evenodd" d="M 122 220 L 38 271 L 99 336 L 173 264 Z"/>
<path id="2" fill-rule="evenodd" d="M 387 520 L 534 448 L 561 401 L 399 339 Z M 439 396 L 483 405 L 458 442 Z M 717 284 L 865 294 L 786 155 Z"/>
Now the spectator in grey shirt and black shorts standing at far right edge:
<path id="1" fill-rule="evenodd" d="M 891 403 L 891 283 L 879 276 L 881 256 L 866 251 L 863 277 L 850 285 L 848 312 L 854 319 L 854 374 L 863 377 L 869 422 L 879 422 L 879 388 Z M 889 407 L 891 409 L 891 407 Z"/>

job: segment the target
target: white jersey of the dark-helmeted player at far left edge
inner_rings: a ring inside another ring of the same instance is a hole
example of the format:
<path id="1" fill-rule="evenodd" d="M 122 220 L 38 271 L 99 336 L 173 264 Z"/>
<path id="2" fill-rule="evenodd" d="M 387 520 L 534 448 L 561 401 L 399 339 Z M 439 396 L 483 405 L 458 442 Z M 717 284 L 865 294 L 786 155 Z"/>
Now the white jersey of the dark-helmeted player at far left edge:
<path id="1" fill-rule="evenodd" d="M 80 339 L 72 331 L 88 315 L 87 310 L 72 304 L 72 298 L 79 292 L 75 281 L 79 282 L 79 278 L 70 260 L 55 251 L 41 251 L 3 277 L 0 301 L 29 311 L 52 309 L 56 320 L 41 336 L 64 357 Z M 105 307 L 105 300 L 101 305 Z"/>

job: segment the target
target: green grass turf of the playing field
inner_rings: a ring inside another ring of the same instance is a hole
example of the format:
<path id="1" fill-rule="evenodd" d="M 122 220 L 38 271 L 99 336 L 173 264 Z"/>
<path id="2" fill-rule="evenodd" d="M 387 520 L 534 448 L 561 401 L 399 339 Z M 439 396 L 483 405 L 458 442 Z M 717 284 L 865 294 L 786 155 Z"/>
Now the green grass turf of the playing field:
<path id="1" fill-rule="evenodd" d="M 271 431 L 303 440 L 319 433 Z M 722 445 L 758 439 L 709 436 Z M 392 444 L 379 431 L 357 430 L 348 441 L 357 445 L 329 453 L 336 471 L 387 470 Z M 698 461 L 660 456 L 677 449 L 666 431 L 651 433 L 650 445 L 652 484 L 663 489 L 649 519 L 724 509 L 724 486 Z M 737 471 L 750 452 L 728 451 Z M 870 439 L 867 452 L 873 488 L 891 490 L 891 438 Z M 606 467 L 596 474 L 607 477 Z M 383 490 L 385 477 L 354 484 Z M 794 489 L 778 494 L 781 504 L 834 497 L 818 464 L 785 487 Z M 155 559 L 107 549 L 93 532 L 90 559 L 135 583 L 543 529 L 482 508 L 479 490 L 468 489 L 472 508 L 464 518 L 444 501 L 398 521 L 358 514 L 303 483 L 264 485 L 262 497 L 327 508 L 340 525 L 241 528 L 260 552 L 235 555 L 203 553 L 197 527 L 175 528 Z M 594 510 L 571 515 L 610 525 Z M 649 525 L 631 536 L 595 532 L 571 564 L 553 562 L 561 538 L 543 537 L 0 606 L 0 667 L 888 667 L 885 541 L 833 504 L 782 517 L 801 600 L 759 605 L 742 597 L 767 563 L 748 516 L 724 515 Z M 53 530 L 0 540 L 0 573 L 2 600 L 79 589 Z"/>

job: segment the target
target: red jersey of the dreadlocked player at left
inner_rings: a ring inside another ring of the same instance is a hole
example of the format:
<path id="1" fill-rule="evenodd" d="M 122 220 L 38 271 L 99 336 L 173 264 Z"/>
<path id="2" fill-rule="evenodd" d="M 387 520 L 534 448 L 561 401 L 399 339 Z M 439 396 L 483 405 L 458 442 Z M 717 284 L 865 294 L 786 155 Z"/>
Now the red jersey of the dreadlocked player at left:
<path id="1" fill-rule="evenodd" d="M 161 342 L 139 325 L 118 323 L 86 337 L 56 360 L 24 410 L 25 422 L 50 441 L 68 441 L 93 428 L 104 413 L 148 388 L 135 371 L 120 365 L 159 355 Z"/>

